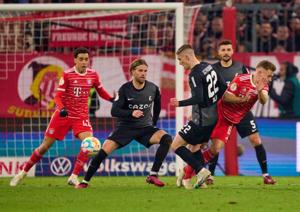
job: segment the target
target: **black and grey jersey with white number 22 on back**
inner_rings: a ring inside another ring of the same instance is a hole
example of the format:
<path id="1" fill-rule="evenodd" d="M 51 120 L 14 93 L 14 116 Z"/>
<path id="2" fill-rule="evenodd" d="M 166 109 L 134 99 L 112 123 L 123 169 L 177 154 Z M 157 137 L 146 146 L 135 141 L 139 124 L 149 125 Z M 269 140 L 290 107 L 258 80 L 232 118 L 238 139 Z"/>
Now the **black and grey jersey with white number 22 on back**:
<path id="1" fill-rule="evenodd" d="M 225 92 L 226 82 L 210 63 L 201 62 L 191 69 L 189 85 L 192 97 L 203 92 L 203 101 L 193 105 L 191 120 L 200 126 L 214 124 L 218 120 L 217 101 Z"/>

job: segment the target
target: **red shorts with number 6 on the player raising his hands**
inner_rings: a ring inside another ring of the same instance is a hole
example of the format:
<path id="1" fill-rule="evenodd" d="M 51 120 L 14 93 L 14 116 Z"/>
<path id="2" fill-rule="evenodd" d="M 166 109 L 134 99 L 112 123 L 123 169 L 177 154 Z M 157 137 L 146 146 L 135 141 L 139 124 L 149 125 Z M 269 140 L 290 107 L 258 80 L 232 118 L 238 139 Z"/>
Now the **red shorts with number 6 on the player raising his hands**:
<path id="1" fill-rule="evenodd" d="M 222 115 L 219 105 L 218 105 L 218 116 L 219 116 L 218 123 L 215 126 L 214 130 L 212 131 L 210 139 L 215 138 L 226 143 L 229 138 L 233 126 L 233 122 L 229 121 Z"/>

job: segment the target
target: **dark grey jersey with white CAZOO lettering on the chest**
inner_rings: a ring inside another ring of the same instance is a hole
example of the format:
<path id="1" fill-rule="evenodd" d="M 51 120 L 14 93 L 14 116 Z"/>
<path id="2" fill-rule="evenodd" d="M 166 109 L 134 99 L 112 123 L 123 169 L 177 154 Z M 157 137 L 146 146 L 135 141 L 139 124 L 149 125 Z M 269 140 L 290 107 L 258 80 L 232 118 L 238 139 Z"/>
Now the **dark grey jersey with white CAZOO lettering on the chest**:
<path id="1" fill-rule="evenodd" d="M 132 81 L 125 83 L 119 89 L 113 107 L 120 107 L 123 111 L 129 111 L 128 116 L 119 117 L 118 124 L 137 127 L 149 126 L 152 124 L 152 105 L 159 104 L 161 96 L 159 88 L 152 82 L 145 81 L 142 89 L 136 89 Z M 140 118 L 132 116 L 134 110 L 143 111 Z"/>

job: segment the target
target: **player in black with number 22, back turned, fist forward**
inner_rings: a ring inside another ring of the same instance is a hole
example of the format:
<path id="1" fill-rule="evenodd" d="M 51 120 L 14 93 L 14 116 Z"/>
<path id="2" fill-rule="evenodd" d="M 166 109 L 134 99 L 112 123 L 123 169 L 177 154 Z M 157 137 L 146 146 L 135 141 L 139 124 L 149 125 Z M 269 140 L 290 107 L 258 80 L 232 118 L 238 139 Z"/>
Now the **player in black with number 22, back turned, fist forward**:
<path id="1" fill-rule="evenodd" d="M 183 101 L 172 98 L 171 105 L 175 107 L 193 105 L 193 110 L 192 119 L 176 135 L 171 148 L 182 160 L 195 169 L 196 184 L 192 186 L 191 181 L 183 181 L 184 187 L 187 189 L 207 188 L 205 180 L 211 173 L 203 167 L 202 152 L 199 149 L 192 153 L 186 146 L 187 144 L 195 146 L 209 141 L 218 121 L 217 102 L 225 92 L 227 85 L 211 64 L 197 60 L 194 50 L 189 44 L 181 46 L 176 54 L 179 64 L 186 70 L 191 69 L 189 85 L 192 97 Z M 184 167 L 180 168 L 179 172 L 182 172 L 183 169 Z M 182 179 L 180 183 L 182 183 Z M 177 186 L 181 187 L 181 185 Z"/>

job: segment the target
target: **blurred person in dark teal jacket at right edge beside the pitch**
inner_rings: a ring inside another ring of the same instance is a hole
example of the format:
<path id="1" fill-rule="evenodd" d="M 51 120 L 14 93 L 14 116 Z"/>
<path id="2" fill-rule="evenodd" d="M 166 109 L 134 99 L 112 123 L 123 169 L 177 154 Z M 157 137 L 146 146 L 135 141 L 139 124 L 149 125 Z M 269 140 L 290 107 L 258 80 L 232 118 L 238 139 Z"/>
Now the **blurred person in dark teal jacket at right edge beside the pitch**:
<path id="1" fill-rule="evenodd" d="M 280 64 L 279 76 L 285 85 L 280 95 L 270 86 L 269 95 L 279 104 L 280 116 L 283 118 L 300 117 L 300 79 L 297 78 L 298 68 L 285 61 Z"/>

